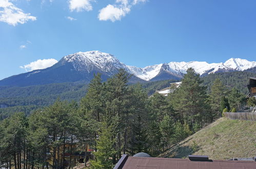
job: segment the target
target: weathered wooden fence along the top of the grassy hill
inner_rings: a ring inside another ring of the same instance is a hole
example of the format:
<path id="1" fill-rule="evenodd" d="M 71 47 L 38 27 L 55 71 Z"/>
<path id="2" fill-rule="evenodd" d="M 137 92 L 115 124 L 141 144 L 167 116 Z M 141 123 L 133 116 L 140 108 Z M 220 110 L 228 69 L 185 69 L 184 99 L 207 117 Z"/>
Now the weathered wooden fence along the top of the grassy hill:
<path id="1" fill-rule="evenodd" d="M 250 120 L 250 121 L 256 121 L 256 113 L 249 113 L 249 112 L 239 112 L 239 113 L 231 113 L 231 112 L 225 112 L 225 117 L 229 119 L 239 119 L 239 120 Z"/>

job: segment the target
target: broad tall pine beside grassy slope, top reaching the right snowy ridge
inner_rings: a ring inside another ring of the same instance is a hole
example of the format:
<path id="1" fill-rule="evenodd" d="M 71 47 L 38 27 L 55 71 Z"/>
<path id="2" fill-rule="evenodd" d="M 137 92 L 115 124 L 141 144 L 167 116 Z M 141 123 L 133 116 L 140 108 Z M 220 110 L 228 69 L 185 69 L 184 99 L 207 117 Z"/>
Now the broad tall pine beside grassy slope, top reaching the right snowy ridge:
<path id="1" fill-rule="evenodd" d="M 203 116 L 209 110 L 206 87 L 202 83 L 200 75 L 189 68 L 171 98 L 174 110 L 182 115 L 180 120 L 189 124 L 191 129 L 193 123 L 203 122 Z"/>

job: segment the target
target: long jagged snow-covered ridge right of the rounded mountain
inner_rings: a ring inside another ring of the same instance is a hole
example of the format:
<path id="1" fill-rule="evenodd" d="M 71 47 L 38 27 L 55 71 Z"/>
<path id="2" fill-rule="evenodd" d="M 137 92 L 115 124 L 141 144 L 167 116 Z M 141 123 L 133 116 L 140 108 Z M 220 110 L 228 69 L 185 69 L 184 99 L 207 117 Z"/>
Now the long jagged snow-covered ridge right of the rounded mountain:
<path id="1" fill-rule="evenodd" d="M 190 62 L 169 62 L 168 64 L 159 64 L 147 66 L 145 68 L 136 68 L 127 66 L 129 71 L 135 76 L 143 80 L 151 80 L 157 75 L 166 72 L 176 77 L 183 76 L 188 68 L 193 68 L 195 72 L 200 75 L 215 73 L 215 72 L 229 72 L 229 71 L 244 71 L 256 67 L 256 61 L 248 61 L 240 58 L 230 58 L 224 64 L 213 63 L 208 64 L 206 61 L 190 61 Z M 161 72 L 162 71 L 162 72 Z"/>

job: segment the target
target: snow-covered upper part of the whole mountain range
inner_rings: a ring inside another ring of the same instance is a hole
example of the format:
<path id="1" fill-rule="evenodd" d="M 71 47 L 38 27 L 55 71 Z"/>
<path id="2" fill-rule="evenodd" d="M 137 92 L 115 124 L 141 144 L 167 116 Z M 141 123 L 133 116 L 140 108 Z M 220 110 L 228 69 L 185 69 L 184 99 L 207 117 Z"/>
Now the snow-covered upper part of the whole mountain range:
<path id="1" fill-rule="evenodd" d="M 77 71 L 90 72 L 97 68 L 101 71 L 113 74 L 117 69 L 123 68 L 134 76 L 146 81 L 151 80 L 161 72 L 183 76 L 188 68 L 193 68 L 195 72 L 203 75 L 215 72 L 244 71 L 256 67 L 256 61 L 230 58 L 224 63 L 208 64 L 206 61 L 181 61 L 138 68 L 135 66 L 127 66 L 115 58 L 114 55 L 100 51 L 78 52 L 65 56 L 63 59 L 72 62 Z"/>

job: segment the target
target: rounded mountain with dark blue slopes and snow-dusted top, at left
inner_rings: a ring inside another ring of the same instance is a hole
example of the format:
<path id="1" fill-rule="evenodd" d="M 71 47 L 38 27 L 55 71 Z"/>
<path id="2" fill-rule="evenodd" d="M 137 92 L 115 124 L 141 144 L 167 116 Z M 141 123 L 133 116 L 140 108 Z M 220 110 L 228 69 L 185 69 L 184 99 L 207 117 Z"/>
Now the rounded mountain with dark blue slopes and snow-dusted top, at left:
<path id="1" fill-rule="evenodd" d="M 63 57 L 52 67 L 14 75 L 0 80 L 0 86 L 32 86 L 49 83 L 90 81 L 93 74 L 102 79 L 114 75 L 124 65 L 113 55 L 100 51 L 78 52 Z M 141 79 L 133 77 L 133 80 Z"/>

